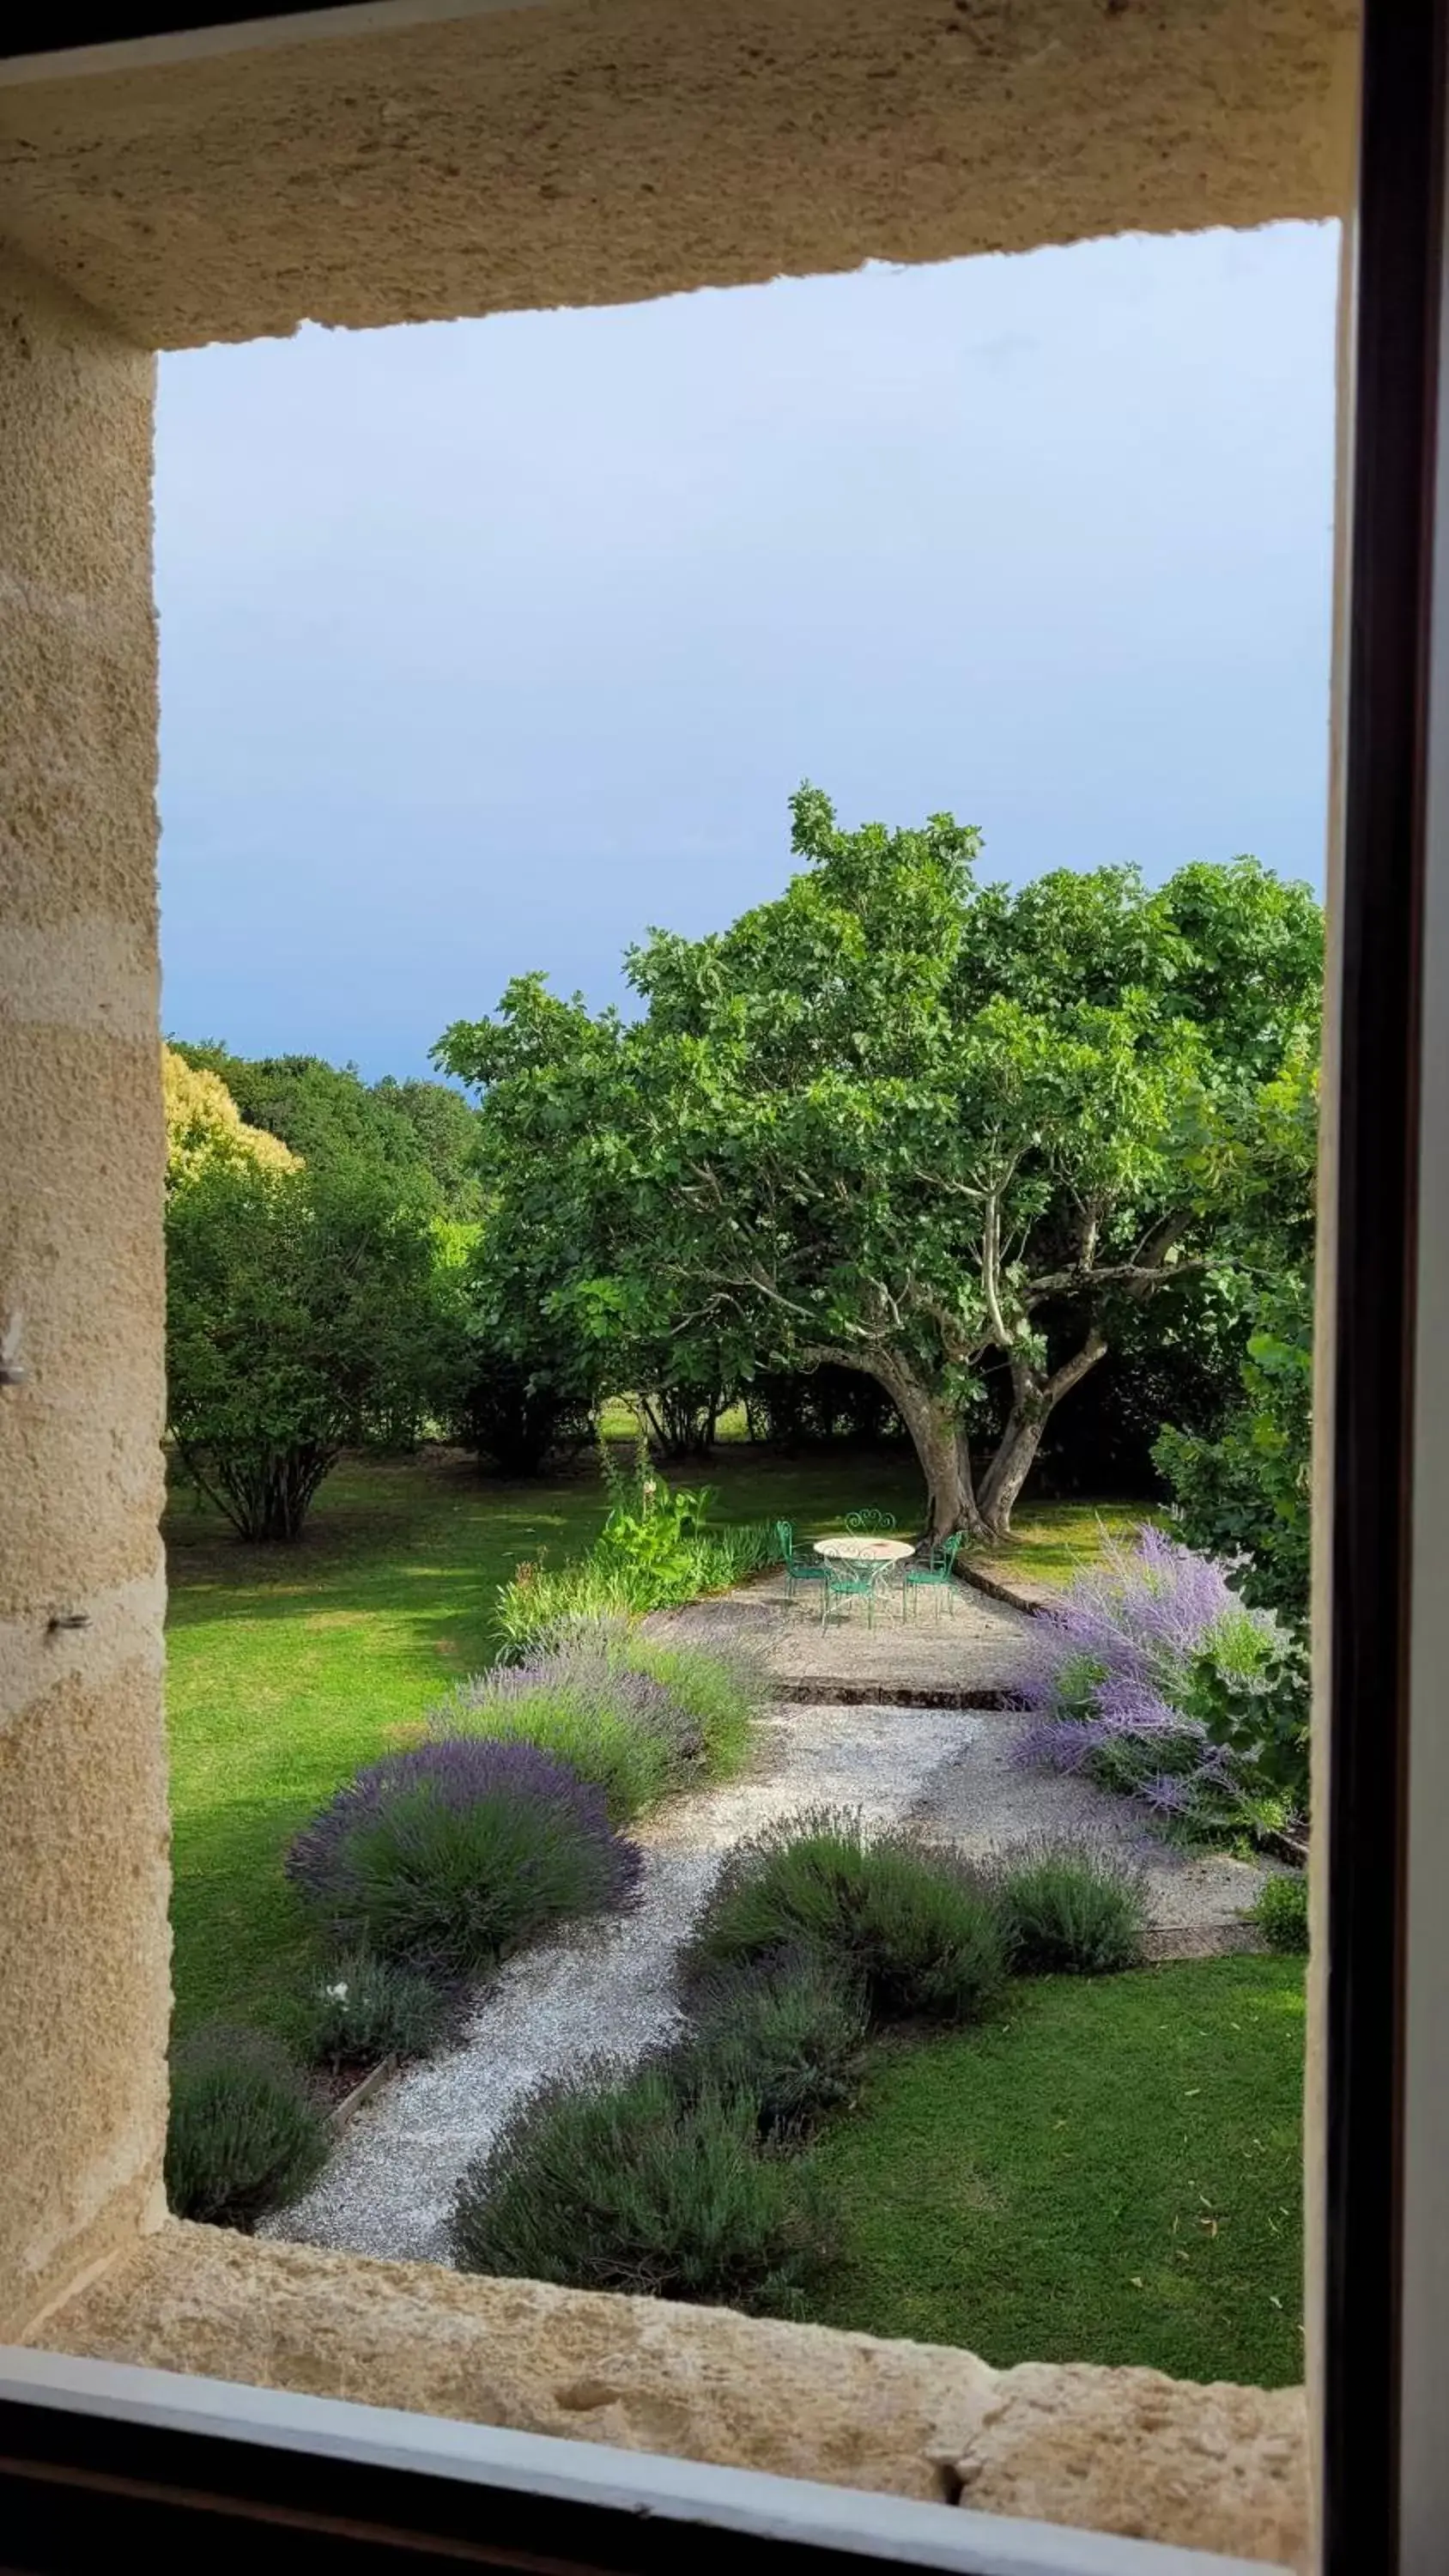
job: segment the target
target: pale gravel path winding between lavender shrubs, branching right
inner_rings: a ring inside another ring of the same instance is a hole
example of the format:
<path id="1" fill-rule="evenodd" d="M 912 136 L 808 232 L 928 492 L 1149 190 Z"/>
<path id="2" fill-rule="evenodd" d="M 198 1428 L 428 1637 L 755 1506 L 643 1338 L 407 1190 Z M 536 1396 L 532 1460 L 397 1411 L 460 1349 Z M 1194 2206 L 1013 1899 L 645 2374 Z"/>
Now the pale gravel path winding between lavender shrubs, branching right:
<path id="1" fill-rule="evenodd" d="M 633 1914 L 577 1924 L 528 1950 L 481 1996 L 461 2048 L 414 2066 L 342 2130 L 306 2200 L 265 2233 L 355 2254 L 448 2262 L 453 2187 L 540 2076 L 589 2056 L 625 2066 L 679 2020 L 674 1958 L 723 1855 L 759 1824 L 808 1806 L 914 1816 L 973 1855 L 1032 1834 L 1089 1832 L 1132 1844 L 1163 1932 L 1233 1922 L 1264 1870 L 1194 1860 L 1143 1837 L 1132 1808 L 1084 1780 L 1022 1772 L 1022 1718 L 968 1708 L 775 1705 L 746 1777 L 677 1798 L 643 1829 Z"/>

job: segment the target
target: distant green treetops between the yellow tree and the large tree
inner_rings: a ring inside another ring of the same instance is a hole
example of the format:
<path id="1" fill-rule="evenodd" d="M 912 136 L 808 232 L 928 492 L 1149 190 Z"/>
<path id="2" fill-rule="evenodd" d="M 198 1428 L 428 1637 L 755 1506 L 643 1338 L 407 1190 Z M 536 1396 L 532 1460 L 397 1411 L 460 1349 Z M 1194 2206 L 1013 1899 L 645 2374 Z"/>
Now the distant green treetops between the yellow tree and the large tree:
<path id="1" fill-rule="evenodd" d="M 476 1218 L 479 1115 L 445 1082 L 363 1082 L 353 1064 L 322 1056 L 232 1056 L 211 1041 L 172 1048 L 196 1072 L 216 1074 L 250 1128 L 281 1136 L 314 1170 L 365 1164 L 407 1188 L 432 1190 L 438 1213 Z"/>

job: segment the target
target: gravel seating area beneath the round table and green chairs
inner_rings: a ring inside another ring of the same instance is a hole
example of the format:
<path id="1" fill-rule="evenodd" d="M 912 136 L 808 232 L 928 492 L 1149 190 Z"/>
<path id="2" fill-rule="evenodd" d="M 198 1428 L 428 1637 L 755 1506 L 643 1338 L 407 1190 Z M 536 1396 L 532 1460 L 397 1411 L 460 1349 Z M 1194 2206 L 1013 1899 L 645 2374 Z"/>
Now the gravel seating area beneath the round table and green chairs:
<path id="1" fill-rule="evenodd" d="M 924 1595 L 901 1618 L 901 1587 L 885 1577 L 875 1602 L 875 1625 L 865 1602 L 831 1610 L 821 1625 L 818 1589 L 785 1597 L 782 1571 L 690 1602 L 685 1610 L 656 1610 L 646 1628 L 661 1636 L 690 1636 L 708 1646 L 741 1636 L 757 1646 L 782 1695 L 808 1700 L 852 1692 L 862 1700 L 893 1700 L 911 1692 L 947 1692 L 963 1708 L 993 1708 L 1011 1700 L 1017 1638 L 1029 1625 L 1022 1610 L 988 1600 L 957 1582 L 950 1602 Z"/>

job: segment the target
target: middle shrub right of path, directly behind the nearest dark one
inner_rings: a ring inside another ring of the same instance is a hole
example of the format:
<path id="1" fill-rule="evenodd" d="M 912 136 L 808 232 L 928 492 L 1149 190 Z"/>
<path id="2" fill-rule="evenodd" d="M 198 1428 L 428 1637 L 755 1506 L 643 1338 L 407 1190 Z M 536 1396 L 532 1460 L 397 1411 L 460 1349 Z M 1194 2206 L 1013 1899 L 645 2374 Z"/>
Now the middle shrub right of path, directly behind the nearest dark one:
<path id="1" fill-rule="evenodd" d="M 749 2099 L 764 2143 L 803 2146 L 854 2102 L 867 2040 L 862 1989 L 806 1950 L 703 1986 L 664 2063 L 682 2099 Z"/>

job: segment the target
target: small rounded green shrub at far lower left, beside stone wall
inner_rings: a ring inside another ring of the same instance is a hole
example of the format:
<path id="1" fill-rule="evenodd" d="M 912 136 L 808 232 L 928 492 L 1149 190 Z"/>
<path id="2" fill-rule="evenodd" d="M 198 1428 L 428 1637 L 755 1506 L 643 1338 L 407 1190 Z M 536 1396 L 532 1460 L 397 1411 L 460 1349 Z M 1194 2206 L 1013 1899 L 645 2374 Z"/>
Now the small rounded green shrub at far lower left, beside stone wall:
<path id="1" fill-rule="evenodd" d="M 260 2030 L 198 2030 L 172 2056 L 165 2184 L 178 2218 L 250 2236 L 327 2164 L 306 2079 Z"/>

